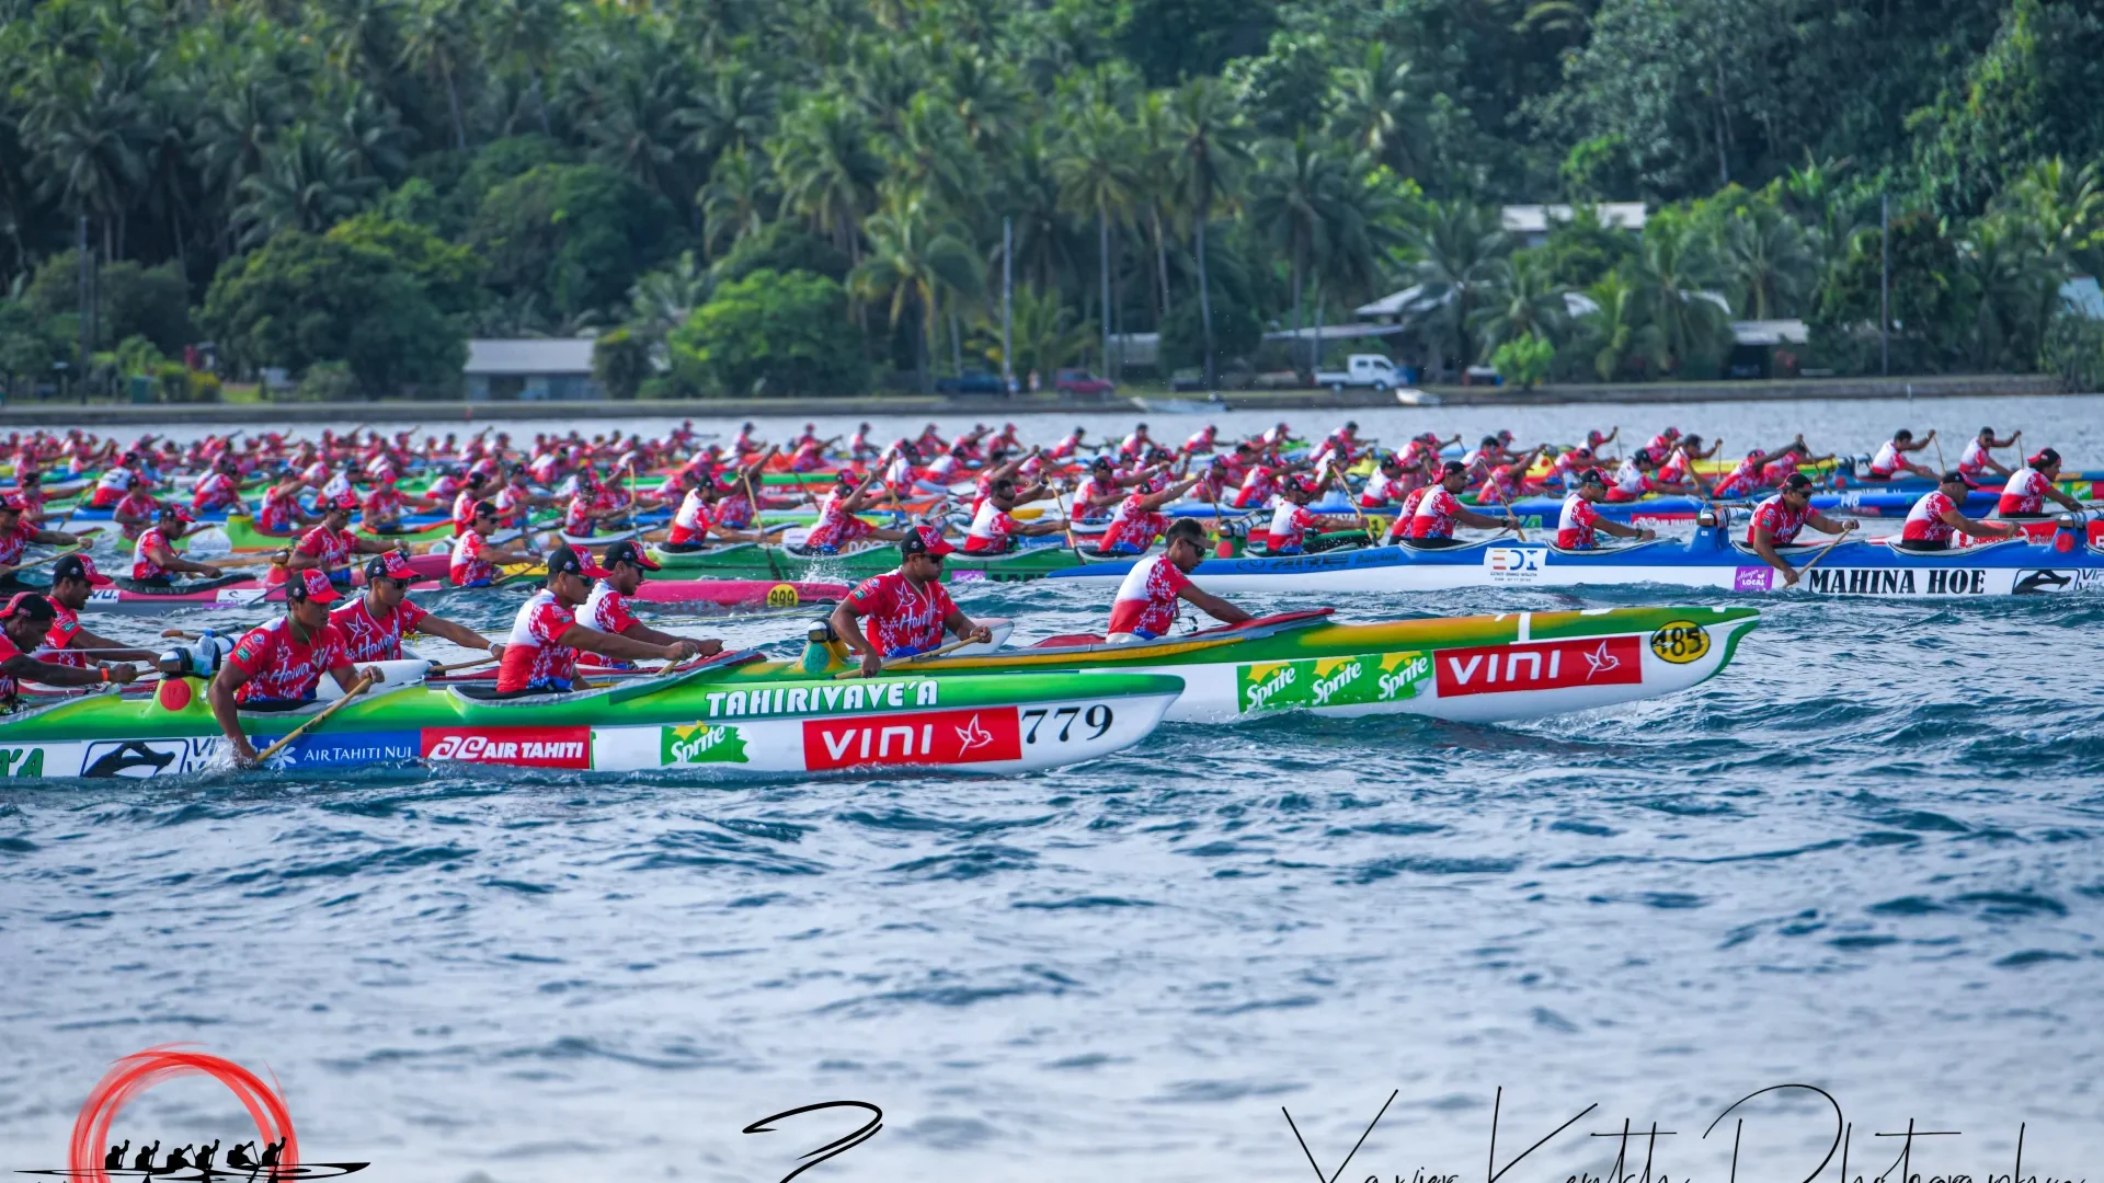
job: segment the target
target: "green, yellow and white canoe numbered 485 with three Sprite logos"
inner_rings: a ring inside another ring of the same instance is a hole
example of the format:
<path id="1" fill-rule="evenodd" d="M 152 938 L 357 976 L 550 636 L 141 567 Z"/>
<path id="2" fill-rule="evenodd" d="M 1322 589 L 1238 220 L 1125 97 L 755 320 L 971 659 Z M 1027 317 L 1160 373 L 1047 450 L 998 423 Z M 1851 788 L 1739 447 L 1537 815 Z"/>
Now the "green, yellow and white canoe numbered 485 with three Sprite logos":
<path id="1" fill-rule="evenodd" d="M 1342 625 L 1328 610 L 1265 617 L 1153 642 L 1058 636 L 1029 648 L 915 661 L 936 678 L 1079 671 L 1172 674 L 1185 690 L 1172 722 L 1235 722 L 1286 709 L 1332 716 L 1414 714 L 1506 722 L 1685 690 L 1713 678 L 1755 627 L 1753 608 L 1599 608 Z M 802 663 L 753 663 L 709 688 L 703 722 L 770 718 L 766 686 L 793 671 L 846 667 L 812 625 Z M 1027 735 L 1096 720 L 1025 711 Z"/>

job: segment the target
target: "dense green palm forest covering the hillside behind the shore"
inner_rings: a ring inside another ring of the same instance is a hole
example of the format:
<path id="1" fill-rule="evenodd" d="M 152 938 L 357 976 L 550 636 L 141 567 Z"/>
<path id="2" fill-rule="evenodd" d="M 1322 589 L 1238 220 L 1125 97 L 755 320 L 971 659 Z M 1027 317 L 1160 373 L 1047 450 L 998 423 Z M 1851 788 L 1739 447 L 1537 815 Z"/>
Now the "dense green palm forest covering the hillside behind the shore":
<path id="1" fill-rule="evenodd" d="M 2075 373 L 2104 263 L 2083 0 L 0 0 L 0 63 L 29 381 L 82 238 L 101 373 L 362 394 L 469 335 L 619 333 L 619 394 L 999 366 L 1004 221 L 1018 375 L 1304 370 L 1262 333 L 1408 284 L 1443 370 L 1715 375 L 1734 318 L 1875 368 L 1881 198 L 1896 368 Z M 1549 200 L 1654 213 L 1500 227 Z"/>

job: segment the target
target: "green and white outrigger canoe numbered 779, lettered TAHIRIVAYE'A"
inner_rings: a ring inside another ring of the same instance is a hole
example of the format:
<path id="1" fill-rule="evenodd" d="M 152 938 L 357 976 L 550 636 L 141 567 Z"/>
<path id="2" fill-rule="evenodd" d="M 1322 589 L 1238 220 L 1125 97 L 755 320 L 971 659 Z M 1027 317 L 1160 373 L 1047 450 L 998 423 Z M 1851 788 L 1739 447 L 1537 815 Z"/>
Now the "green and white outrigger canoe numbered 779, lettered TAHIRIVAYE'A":
<path id="1" fill-rule="evenodd" d="M 375 690 L 295 739 L 278 766 L 509 764 L 602 773 L 804 777 L 852 770 L 1033 773 L 1094 760 L 1145 739 L 1182 690 L 1155 674 L 766 678 L 764 711 L 709 718 L 757 653 L 734 653 L 671 678 L 635 678 L 574 695 L 492 701 L 476 684 L 414 682 Z M 715 699 L 711 699 L 715 695 Z M 242 714 L 257 749 L 305 722 L 301 711 Z M 1073 726 L 1031 726 L 1041 718 Z M 223 768 L 219 724 L 194 680 L 149 695 L 99 690 L 0 718 L 0 775 L 175 777 Z"/>

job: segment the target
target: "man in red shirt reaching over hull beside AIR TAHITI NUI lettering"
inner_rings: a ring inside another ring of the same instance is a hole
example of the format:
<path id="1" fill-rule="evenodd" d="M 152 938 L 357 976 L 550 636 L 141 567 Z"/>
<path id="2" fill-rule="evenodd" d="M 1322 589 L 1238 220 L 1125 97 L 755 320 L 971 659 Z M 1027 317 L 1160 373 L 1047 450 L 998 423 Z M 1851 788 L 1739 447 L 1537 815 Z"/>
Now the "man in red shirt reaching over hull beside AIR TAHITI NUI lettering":
<path id="1" fill-rule="evenodd" d="M 313 701 L 322 674 L 349 693 L 358 680 L 381 682 L 379 667 L 358 669 L 343 634 L 328 623 L 337 585 L 320 570 L 297 570 L 284 581 L 284 615 L 242 634 L 227 653 L 206 701 L 234 749 L 234 762 L 250 768 L 257 749 L 242 733 L 238 711 L 286 711 Z"/>

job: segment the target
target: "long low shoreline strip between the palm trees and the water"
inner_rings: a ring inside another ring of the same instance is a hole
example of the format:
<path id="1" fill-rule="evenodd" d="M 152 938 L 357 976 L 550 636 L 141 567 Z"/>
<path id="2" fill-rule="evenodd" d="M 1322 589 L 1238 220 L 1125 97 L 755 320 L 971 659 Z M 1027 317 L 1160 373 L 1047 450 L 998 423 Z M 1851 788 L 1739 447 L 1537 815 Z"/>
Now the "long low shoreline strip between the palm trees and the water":
<path id="1" fill-rule="evenodd" d="M 869 398 L 711 398 L 711 400 L 385 400 L 385 402 L 13 402 L 0 404 L 0 427 L 109 427 L 109 425 L 240 425 L 274 419 L 307 423 L 360 423 L 423 419 L 429 423 L 515 423 L 532 419 L 730 419 L 762 415 L 1102 415 L 1102 413 L 1233 413 L 1233 410 L 1347 410 L 1401 406 L 1439 410 L 1456 406 L 1576 406 L 1595 402 L 1786 402 L 1877 398 L 2022 398 L 2072 396 L 2054 375 L 1934 375 L 1908 379 L 1774 379 L 1704 383 L 1601 383 L 1517 387 L 1422 387 L 1427 402 L 1397 402 L 1372 389 L 1246 389 L 1216 400 L 1174 394 L 1111 398 L 1071 396 L 869 396 Z"/>

